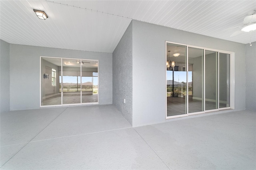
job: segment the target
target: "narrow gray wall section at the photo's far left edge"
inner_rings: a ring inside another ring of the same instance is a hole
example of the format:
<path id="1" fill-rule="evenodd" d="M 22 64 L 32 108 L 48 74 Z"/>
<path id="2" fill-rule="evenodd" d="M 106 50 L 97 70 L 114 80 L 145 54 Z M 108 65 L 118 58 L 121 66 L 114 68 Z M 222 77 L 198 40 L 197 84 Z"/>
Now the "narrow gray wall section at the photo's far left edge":
<path id="1" fill-rule="evenodd" d="M 0 112 L 10 111 L 10 44 L 0 40 Z"/>

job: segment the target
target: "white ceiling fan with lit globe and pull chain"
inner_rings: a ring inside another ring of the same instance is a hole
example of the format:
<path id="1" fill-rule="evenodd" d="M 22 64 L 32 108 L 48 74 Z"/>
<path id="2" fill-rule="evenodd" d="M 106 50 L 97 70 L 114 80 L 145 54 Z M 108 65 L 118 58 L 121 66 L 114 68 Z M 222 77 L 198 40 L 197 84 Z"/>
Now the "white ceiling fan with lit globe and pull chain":
<path id="1" fill-rule="evenodd" d="M 251 32 L 256 30 L 256 10 L 250 11 L 247 13 L 247 16 L 244 18 L 242 26 L 238 26 L 238 31 L 230 35 L 230 37 L 236 36 L 242 32 Z"/>

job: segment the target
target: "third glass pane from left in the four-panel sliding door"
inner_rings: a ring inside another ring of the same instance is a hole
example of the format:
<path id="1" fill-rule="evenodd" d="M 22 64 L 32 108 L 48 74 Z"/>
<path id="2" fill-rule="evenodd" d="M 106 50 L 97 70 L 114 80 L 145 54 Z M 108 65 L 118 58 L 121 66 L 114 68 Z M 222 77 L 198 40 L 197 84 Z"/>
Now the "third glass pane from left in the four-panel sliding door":
<path id="1" fill-rule="evenodd" d="M 218 52 L 205 50 L 205 110 L 218 109 Z"/>

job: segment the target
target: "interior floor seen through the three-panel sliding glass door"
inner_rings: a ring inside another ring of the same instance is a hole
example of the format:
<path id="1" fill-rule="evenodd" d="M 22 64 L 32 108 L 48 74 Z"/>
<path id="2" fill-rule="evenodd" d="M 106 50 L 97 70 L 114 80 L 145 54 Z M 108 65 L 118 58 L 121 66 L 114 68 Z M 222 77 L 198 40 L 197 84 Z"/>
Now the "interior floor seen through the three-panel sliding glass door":
<path id="1" fill-rule="evenodd" d="M 98 94 L 83 94 L 82 103 L 94 103 L 98 102 Z M 79 94 L 63 94 L 63 104 L 75 104 L 80 103 L 80 93 Z M 61 105 L 61 95 L 56 95 L 54 97 L 49 97 L 43 99 L 42 106 L 48 105 Z"/>

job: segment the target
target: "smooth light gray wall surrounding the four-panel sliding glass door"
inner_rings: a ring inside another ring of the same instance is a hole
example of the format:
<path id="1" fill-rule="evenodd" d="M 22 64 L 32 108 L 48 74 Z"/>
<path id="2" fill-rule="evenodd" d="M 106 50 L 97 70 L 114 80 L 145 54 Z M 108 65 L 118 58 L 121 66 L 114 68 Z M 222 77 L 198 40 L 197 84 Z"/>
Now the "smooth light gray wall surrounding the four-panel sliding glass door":
<path id="1" fill-rule="evenodd" d="M 132 21 L 134 127 L 166 121 L 165 41 L 235 52 L 235 110 L 245 110 L 244 44 Z M 168 120 L 167 120 L 168 121 Z"/>

